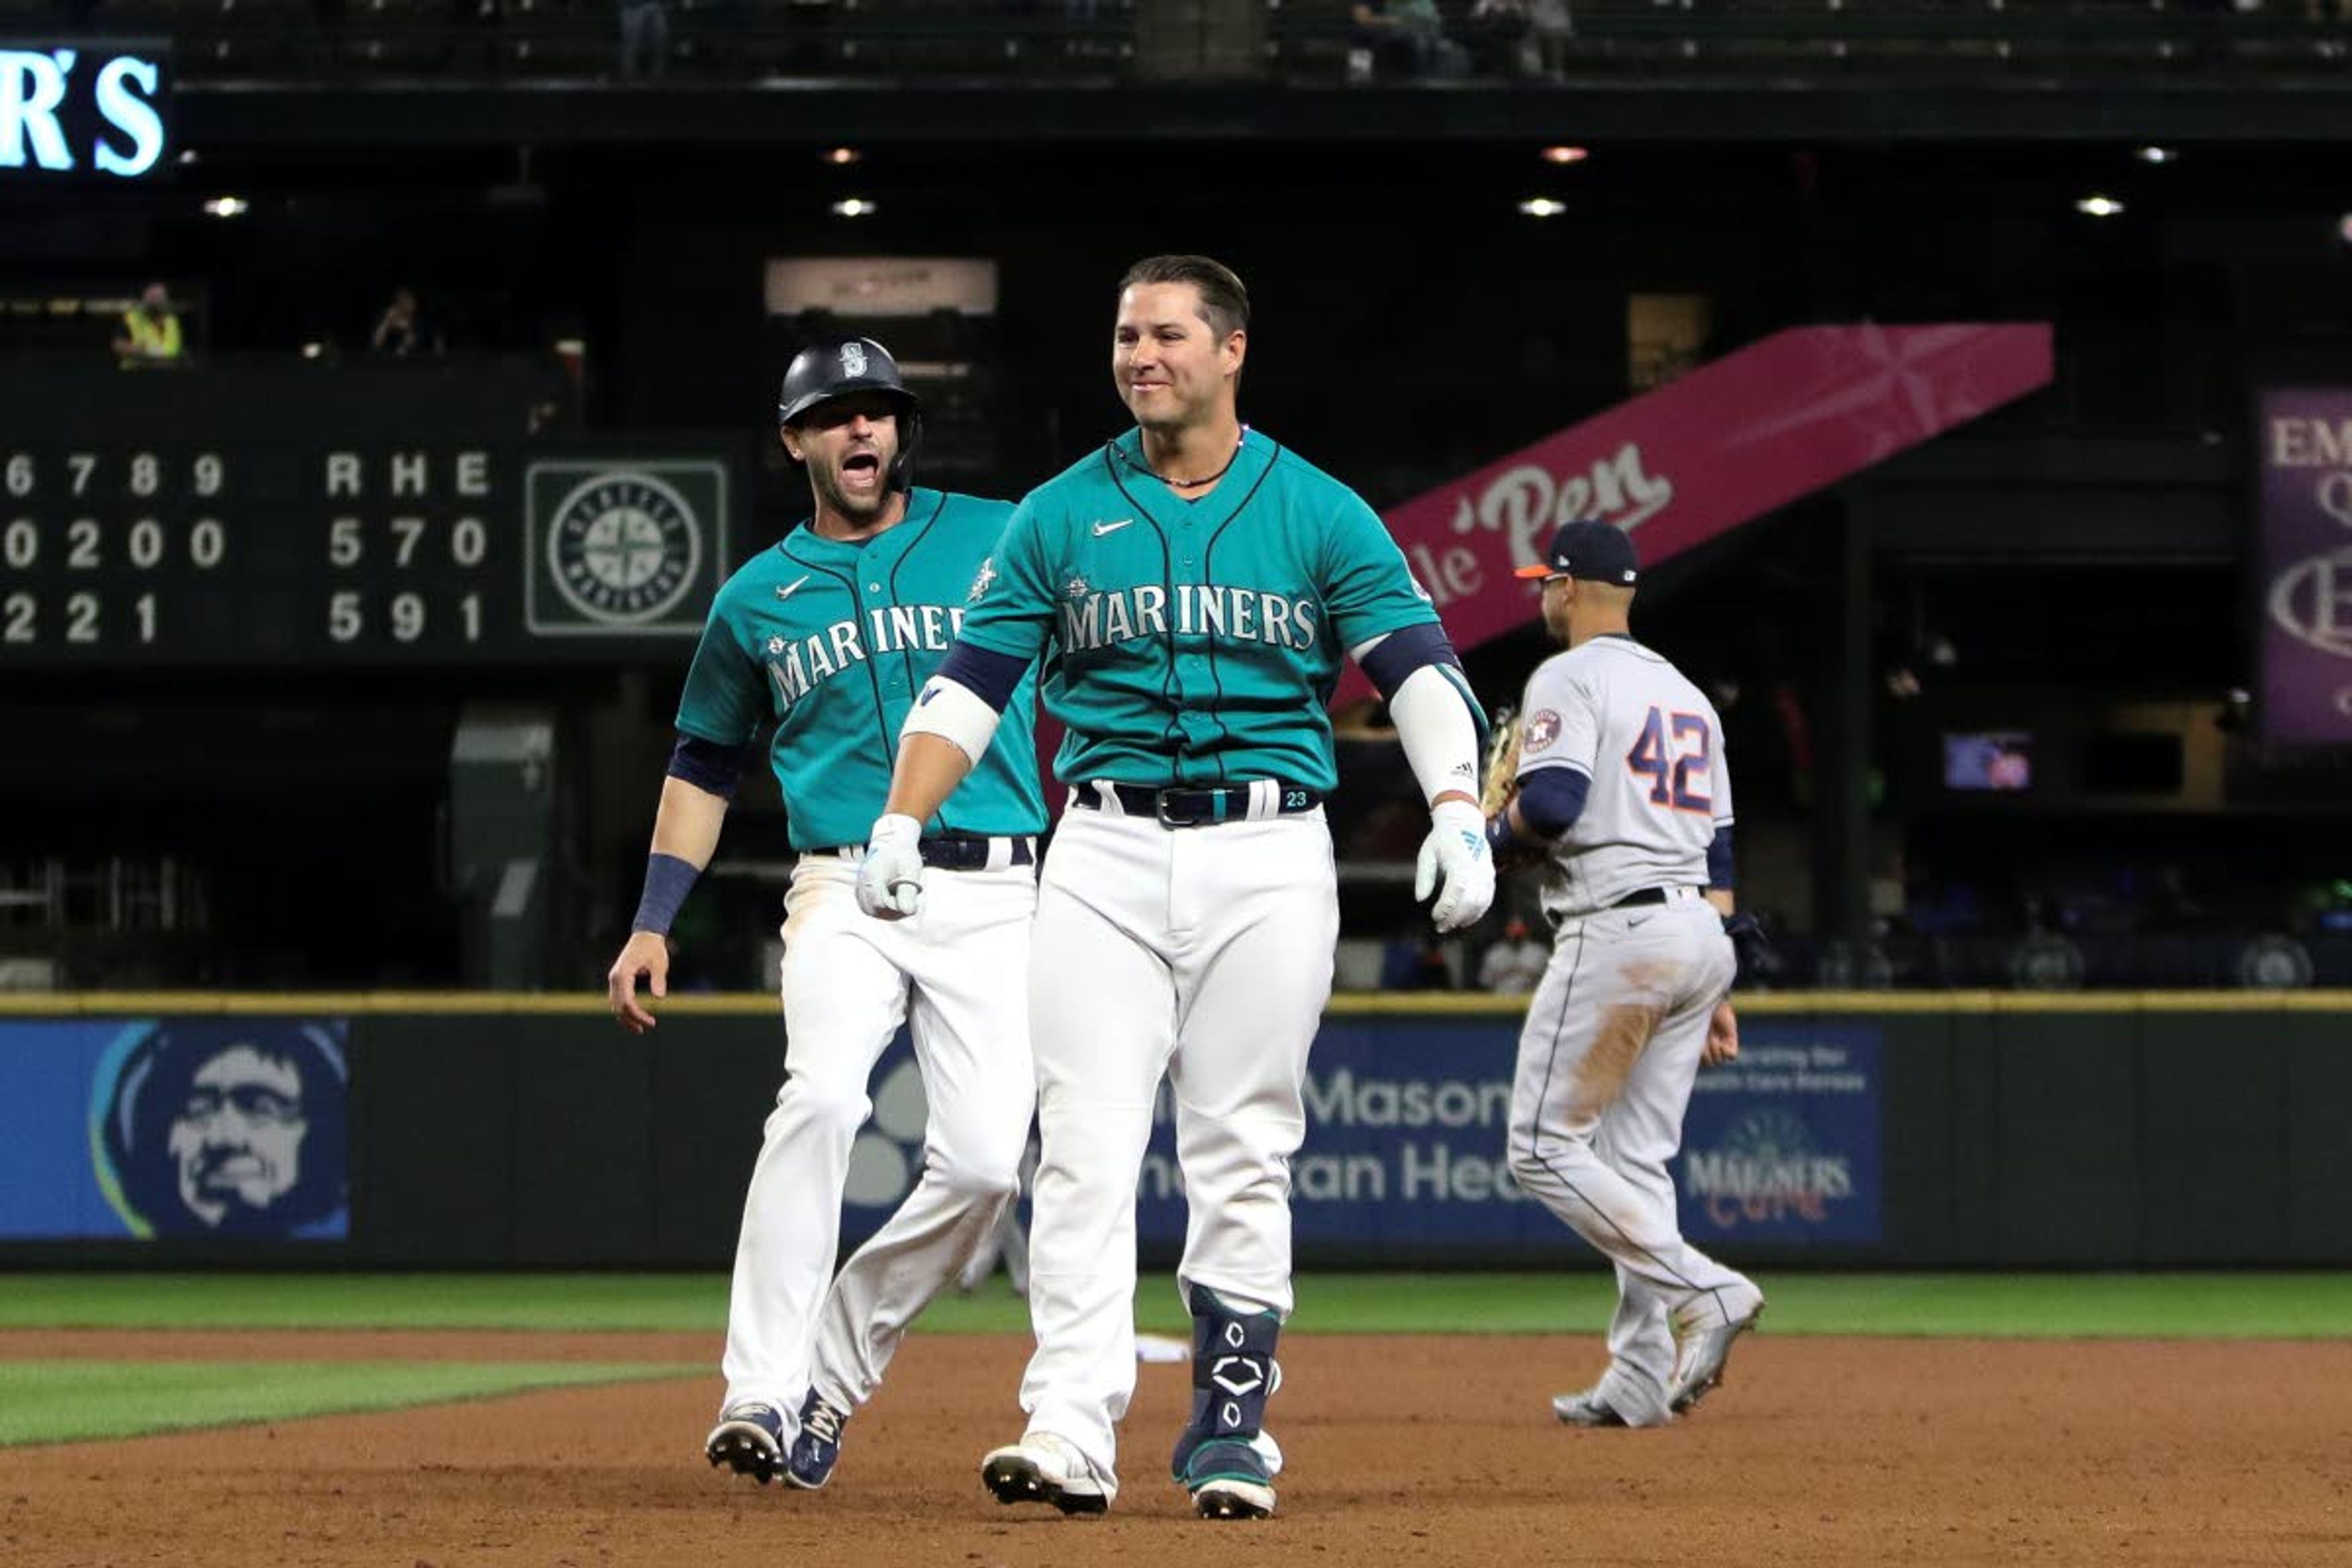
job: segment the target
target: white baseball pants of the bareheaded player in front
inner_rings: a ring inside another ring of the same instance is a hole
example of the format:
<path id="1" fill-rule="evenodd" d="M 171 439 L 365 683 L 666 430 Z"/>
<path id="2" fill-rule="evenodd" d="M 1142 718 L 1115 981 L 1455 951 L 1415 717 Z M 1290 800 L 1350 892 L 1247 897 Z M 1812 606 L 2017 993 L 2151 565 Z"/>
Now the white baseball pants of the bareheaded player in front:
<path id="1" fill-rule="evenodd" d="M 1042 1150 L 1021 1408 L 1110 1495 L 1136 1389 L 1136 1180 L 1160 1079 L 1188 1206 L 1178 1291 L 1202 1284 L 1289 1316 L 1291 1154 L 1336 945 L 1319 809 L 1176 830 L 1061 818 L 1030 964 Z"/>

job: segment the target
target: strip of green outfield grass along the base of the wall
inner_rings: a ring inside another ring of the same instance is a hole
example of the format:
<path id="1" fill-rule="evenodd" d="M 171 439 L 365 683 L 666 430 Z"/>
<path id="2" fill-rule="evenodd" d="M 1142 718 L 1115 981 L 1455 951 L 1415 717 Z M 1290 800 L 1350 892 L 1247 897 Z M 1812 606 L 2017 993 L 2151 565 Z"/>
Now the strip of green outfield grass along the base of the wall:
<path id="1" fill-rule="evenodd" d="M 2338 1274 L 1776 1274 L 1771 1333 L 1985 1338 L 2347 1338 Z M 1308 1274 L 1296 1333 L 1599 1333 L 1611 1281 L 1557 1274 Z M 1145 1279 L 1136 1321 L 1185 1331 L 1176 1288 Z M 527 1328 L 708 1333 L 722 1274 L 0 1274 L 0 1328 Z M 1025 1333 L 997 1279 L 948 1293 L 927 1333 Z M 0 1349 L 5 1354 L 5 1349 Z"/>

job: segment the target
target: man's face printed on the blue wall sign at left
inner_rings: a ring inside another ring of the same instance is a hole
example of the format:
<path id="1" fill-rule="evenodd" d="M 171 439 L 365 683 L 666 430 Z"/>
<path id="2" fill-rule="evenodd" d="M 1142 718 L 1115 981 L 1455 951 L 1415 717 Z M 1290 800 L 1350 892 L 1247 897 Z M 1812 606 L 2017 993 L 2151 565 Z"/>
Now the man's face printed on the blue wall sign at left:
<path id="1" fill-rule="evenodd" d="M 263 1213 L 301 1180 L 301 1072 L 280 1056 L 235 1044 L 195 1070 L 165 1147 L 179 1201 L 205 1225 L 230 1208 Z"/>

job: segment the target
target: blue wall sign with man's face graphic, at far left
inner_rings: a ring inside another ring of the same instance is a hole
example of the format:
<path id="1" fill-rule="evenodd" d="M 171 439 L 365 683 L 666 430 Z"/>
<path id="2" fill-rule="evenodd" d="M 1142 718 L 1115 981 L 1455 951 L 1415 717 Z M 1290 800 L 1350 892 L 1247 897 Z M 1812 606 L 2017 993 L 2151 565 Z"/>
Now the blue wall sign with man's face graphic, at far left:
<path id="1" fill-rule="evenodd" d="M 0 1020 L 0 1239 L 350 1234 L 343 1020 Z"/>

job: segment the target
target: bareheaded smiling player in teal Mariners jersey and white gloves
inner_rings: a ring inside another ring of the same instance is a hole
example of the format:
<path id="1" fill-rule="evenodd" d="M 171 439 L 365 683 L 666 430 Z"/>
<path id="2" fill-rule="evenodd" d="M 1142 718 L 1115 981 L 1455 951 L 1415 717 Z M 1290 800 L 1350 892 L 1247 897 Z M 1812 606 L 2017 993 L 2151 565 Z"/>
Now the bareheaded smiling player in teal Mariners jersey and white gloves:
<path id="1" fill-rule="evenodd" d="M 1171 1472 L 1209 1519 L 1275 1507 L 1263 1434 L 1291 1312 L 1289 1161 L 1331 994 L 1338 886 L 1324 705 L 1352 654 L 1425 797 L 1421 893 L 1454 931 L 1494 898 L 1482 715 L 1381 520 L 1235 414 L 1249 299 L 1204 256 L 1136 263 L 1110 364 L 1136 430 L 1033 491 L 901 736 L 858 903 L 903 919 L 938 877 L 920 823 L 988 755 L 1042 661 L 1070 788 L 1037 900 L 1030 1009 L 1042 1154 L 1030 1220 L 1028 1429 L 1002 1502 L 1101 1512 L 1136 1382 L 1136 1178 L 1162 1074 L 1190 1222 L 1192 1420 Z M 969 788 L 969 785 L 967 785 Z"/>

